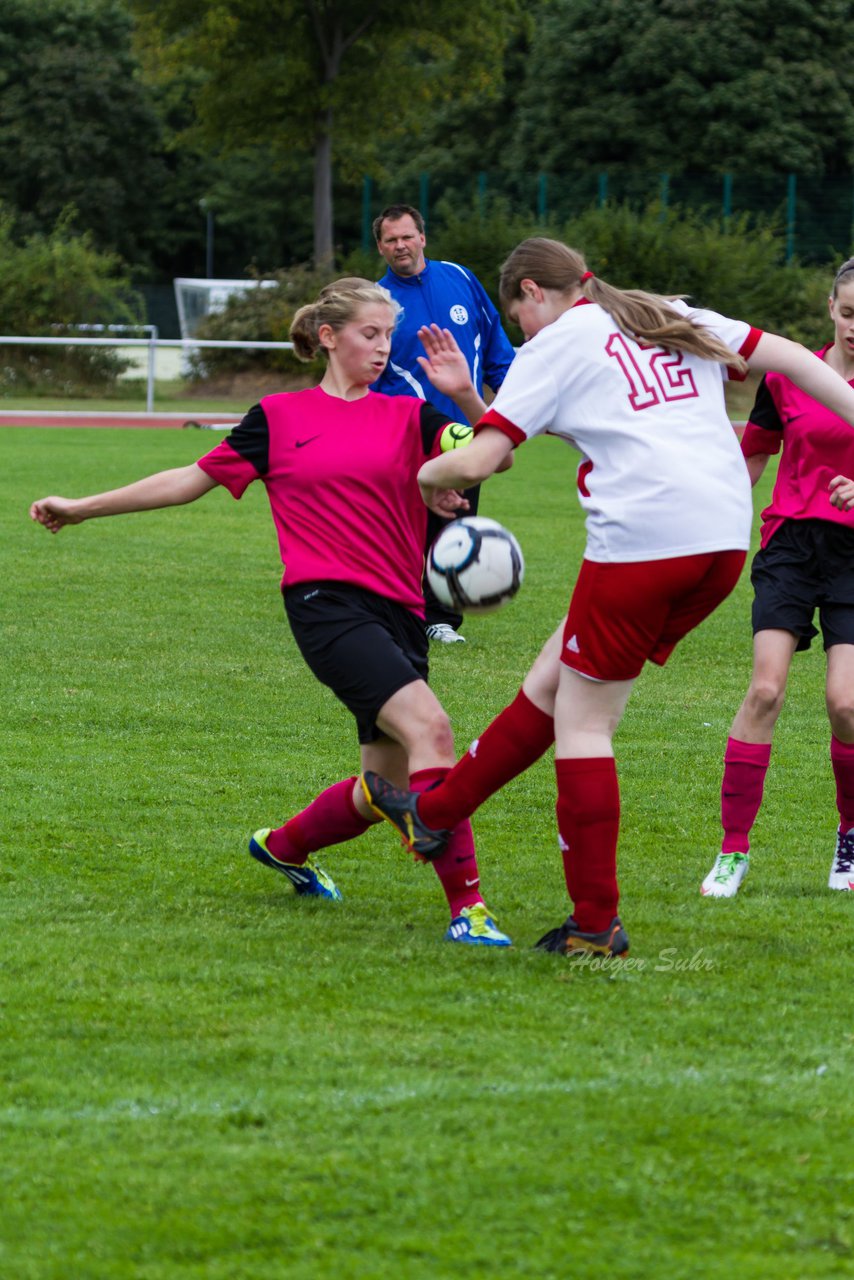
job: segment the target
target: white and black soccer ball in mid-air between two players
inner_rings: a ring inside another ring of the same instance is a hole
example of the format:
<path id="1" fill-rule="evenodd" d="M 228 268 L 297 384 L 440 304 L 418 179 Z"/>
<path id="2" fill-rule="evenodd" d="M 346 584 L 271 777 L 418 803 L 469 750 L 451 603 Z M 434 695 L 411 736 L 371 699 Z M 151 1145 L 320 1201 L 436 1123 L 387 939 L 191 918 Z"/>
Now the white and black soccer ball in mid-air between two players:
<path id="1" fill-rule="evenodd" d="M 492 613 L 522 585 L 522 549 L 503 525 L 463 516 L 442 530 L 428 554 L 437 599 L 460 613 Z"/>

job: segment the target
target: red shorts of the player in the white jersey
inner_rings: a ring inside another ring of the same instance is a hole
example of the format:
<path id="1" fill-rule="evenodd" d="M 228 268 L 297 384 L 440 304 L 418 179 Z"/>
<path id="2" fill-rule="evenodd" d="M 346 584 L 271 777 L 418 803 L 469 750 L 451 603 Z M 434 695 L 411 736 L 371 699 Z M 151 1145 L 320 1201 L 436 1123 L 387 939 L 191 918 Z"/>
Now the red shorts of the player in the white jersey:
<path id="1" fill-rule="evenodd" d="M 634 680 L 663 666 L 726 599 L 746 552 L 600 564 L 583 561 L 563 628 L 561 662 L 593 680 Z"/>

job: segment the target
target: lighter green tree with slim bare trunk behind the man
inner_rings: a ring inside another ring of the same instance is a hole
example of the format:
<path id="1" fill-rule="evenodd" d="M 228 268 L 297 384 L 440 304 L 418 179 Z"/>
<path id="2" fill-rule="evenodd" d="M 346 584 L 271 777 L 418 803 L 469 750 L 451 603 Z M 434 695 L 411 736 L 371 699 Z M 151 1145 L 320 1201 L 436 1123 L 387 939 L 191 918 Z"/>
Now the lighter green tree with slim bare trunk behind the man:
<path id="1" fill-rule="evenodd" d="M 437 102 L 483 92 L 519 4 L 134 0 L 134 9 L 149 63 L 204 73 L 195 132 L 209 146 L 312 157 L 314 259 L 326 266 L 333 166 L 356 179 L 384 138 Z"/>

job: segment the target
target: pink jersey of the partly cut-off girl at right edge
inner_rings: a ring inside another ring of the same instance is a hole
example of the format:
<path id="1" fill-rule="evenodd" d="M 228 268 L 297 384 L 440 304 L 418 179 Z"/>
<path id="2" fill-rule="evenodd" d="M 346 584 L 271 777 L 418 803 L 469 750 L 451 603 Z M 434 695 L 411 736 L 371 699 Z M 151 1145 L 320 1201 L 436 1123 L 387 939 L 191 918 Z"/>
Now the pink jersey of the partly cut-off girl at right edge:
<path id="1" fill-rule="evenodd" d="M 816 355 L 823 360 L 832 343 Z M 850 384 L 854 387 L 854 381 Z M 762 545 L 784 520 L 830 520 L 854 527 L 854 511 L 831 507 L 827 485 L 854 475 L 854 431 L 782 374 L 766 374 L 741 438 L 745 458 L 780 453 L 771 503 L 762 512 Z"/>

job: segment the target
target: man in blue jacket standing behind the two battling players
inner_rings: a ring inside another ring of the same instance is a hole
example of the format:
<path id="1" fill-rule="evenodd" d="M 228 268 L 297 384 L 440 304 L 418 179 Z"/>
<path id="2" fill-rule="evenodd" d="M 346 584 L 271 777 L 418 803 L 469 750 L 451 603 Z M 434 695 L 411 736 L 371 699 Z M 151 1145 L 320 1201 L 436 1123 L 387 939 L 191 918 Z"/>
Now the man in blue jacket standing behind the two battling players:
<path id="1" fill-rule="evenodd" d="M 374 238 L 388 264 L 388 271 L 379 283 L 403 308 L 392 338 L 391 360 L 383 376 L 374 383 L 374 390 L 387 396 L 429 399 L 437 408 L 465 422 L 458 406 L 440 396 L 423 374 L 416 358 L 424 355 L 417 332 L 425 324 L 448 329 L 469 361 L 471 380 L 483 396 L 484 383 L 493 392 L 498 390 L 515 355 L 498 312 L 480 280 L 465 266 L 425 259 L 424 219 L 411 205 L 389 205 L 384 209 L 374 219 Z M 478 494 L 479 489 L 466 490 L 472 515 L 478 509 Z M 426 547 L 443 525 L 439 516 L 433 512 L 428 515 Z M 462 641 L 463 636 L 457 630 L 462 614 L 439 604 L 429 590 L 426 577 L 424 595 L 426 632 L 430 639 L 444 644 Z"/>

